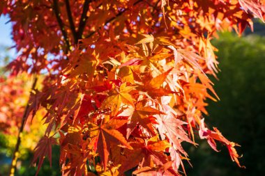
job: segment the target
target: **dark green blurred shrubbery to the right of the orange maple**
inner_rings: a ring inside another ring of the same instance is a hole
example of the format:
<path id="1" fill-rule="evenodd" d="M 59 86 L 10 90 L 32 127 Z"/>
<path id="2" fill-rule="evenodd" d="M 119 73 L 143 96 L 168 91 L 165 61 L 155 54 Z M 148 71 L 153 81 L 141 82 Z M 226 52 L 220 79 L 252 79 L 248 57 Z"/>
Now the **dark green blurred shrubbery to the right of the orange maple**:
<path id="1" fill-rule="evenodd" d="M 237 147 L 241 164 L 239 168 L 229 159 L 225 146 L 214 152 L 206 141 L 199 147 L 190 147 L 193 168 L 188 175 L 264 175 L 265 167 L 265 38 L 247 35 L 242 38 L 231 33 L 220 34 L 213 45 L 219 49 L 220 61 L 215 91 L 220 102 L 210 102 L 206 123 L 218 127 L 222 134 L 239 143 Z"/>

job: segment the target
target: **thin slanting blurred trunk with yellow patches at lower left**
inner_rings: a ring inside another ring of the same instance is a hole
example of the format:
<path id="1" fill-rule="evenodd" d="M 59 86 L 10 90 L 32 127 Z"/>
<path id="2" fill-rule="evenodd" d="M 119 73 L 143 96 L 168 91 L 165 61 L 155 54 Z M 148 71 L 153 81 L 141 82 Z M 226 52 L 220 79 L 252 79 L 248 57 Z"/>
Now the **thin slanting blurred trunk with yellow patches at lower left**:
<path id="1" fill-rule="evenodd" d="M 32 83 L 32 86 L 31 86 L 31 91 L 35 89 L 37 81 L 38 81 L 38 77 L 36 76 L 34 78 L 34 80 L 33 80 L 33 83 Z M 24 130 L 24 126 L 25 126 L 25 124 L 27 122 L 29 111 L 30 110 L 29 110 L 29 100 L 28 100 L 27 106 L 26 106 L 26 108 L 24 110 L 24 114 L 23 114 L 23 117 L 22 117 L 20 131 L 18 131 L 17 143 L 15 145 L 15 150 L 13 152 L 13 158 L 12 158 L 12 161 L 11 161 L 9 176 L 14 176 L 15 175 L 15 167 L 17 166 L 17 157 L 18 157 L 18 151 L 20 149 L 21 136 L 22 136 L 22 132 Z"/>

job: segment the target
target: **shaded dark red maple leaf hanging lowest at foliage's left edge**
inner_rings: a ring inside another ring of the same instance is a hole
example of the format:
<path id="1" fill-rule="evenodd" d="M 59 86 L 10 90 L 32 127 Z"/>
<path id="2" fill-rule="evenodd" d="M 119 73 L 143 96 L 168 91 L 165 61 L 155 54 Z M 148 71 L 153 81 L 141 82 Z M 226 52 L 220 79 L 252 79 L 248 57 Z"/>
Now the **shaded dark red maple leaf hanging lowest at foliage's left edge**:
<path id="1" fill-rule="evenodd" d="M 32 163 L 36 163 L 38 160 L 38 169 L 35 175 L 38 175 L 40 167 L 43 165 L 45 157 L 48 157 L 50 161 L 50 167 L 52 167 L 52 145 L 56 144 L 56 139 L 51 136 L 43 136 L 38 142 L 38 145 L 34 149 L 34 156 Z"/>

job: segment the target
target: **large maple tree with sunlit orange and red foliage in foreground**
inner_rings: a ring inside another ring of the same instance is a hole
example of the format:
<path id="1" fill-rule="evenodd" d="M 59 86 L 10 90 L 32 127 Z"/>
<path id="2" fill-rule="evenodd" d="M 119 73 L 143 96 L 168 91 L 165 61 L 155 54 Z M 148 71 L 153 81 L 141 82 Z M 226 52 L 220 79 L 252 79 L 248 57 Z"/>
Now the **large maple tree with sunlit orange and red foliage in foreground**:
<path id="1" fill-rule="evenodd" d="M 46 110 L 33 163 L 40 170 L 45 157 L 52 162 L 51 146 L 59 143 L 62 175 L 123 175 L 135 167 L 134 175 L 181 175 L 188 161 L 181 143 L 197 145 L 198 134 L 213 150 L 216 141 L 225 145 L 244 167 L 237 144 L 204 123 L 206 99 L 219 99 L 207 77 L 218 72 L 211 39 L 252 28 L 252 17 L 263 20 L 264 4 L 1 1 L 20 51 L 7 66 L 10 77 L 45 77 L 41 89 L 33 83 L 20 128 Z"/>

